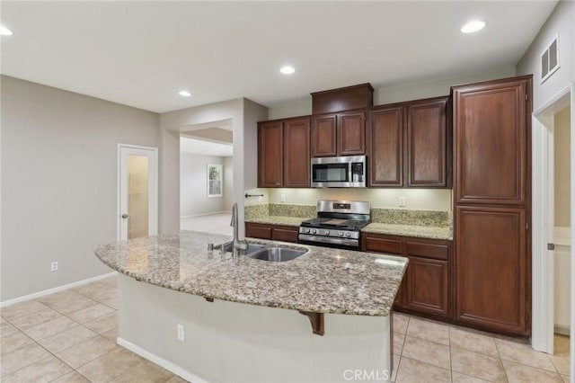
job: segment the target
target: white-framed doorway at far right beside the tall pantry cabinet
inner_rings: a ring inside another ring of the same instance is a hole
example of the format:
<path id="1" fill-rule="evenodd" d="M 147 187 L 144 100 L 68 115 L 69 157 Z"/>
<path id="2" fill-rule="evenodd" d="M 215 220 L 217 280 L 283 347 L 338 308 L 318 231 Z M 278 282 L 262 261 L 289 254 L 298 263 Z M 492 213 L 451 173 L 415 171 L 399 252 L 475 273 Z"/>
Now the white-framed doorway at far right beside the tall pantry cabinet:
<path id="1" fill-rule="evenodd" d="M 532 346 L 553 354 L 553 363 L 565 375 L 573 364 L 574 89 L 566 86 L 533 114 Z"/>

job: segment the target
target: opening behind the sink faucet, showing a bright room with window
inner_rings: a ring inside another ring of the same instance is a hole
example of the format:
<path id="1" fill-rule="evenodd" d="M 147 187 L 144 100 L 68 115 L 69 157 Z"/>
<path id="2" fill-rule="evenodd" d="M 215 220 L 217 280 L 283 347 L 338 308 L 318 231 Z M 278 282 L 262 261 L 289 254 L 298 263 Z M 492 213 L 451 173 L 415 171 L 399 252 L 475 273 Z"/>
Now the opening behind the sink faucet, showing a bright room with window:
<path id="1" fill-rule="evenodd" d="M 232 234 L 233 139 L 231 123 L 201 124 L 181 131 L 181 230 Z"/>

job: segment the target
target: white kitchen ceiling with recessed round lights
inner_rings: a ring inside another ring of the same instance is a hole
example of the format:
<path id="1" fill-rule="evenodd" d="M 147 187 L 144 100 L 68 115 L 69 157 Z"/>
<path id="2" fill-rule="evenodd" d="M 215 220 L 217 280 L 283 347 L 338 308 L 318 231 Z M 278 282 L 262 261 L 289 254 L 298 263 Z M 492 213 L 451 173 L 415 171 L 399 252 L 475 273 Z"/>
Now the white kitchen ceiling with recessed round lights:
<path id="1" fill-rule="evenodd" d="M 4 75 L 148 111 L 516 65 L 556 1 L 1 2 Z M 464 35 L 464 22 L 487 27 Z M 290 63 L 296 74 L 279 67 Z M 192 97 L 177 93 L 188 89 Z"/>

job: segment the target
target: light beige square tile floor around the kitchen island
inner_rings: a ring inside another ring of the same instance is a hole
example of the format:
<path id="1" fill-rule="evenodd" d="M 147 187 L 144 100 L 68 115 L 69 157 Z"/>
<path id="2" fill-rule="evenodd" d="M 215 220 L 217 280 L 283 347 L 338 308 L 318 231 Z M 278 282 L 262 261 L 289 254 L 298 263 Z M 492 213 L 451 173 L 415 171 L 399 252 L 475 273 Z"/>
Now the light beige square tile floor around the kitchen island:
<path id="1" fill-rule="evenodd" d="M 0 310 L 2 382 L 184 382 L 115 343 L 116 278 Z M 525 342 L 394 314 L 396 382 L 568 382 L 569 338 L 555 354 Z"/>

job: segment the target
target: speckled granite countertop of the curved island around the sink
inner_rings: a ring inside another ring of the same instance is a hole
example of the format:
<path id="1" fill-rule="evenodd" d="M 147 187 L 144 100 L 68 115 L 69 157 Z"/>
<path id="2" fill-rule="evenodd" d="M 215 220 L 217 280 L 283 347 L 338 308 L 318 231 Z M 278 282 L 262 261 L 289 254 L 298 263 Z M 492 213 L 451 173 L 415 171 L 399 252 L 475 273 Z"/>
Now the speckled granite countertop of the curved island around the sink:
<path id="1" fill-rule="evenodd" d="M 311 245 L 308 253 L 272 263 L 247 256 L 209 256 L 208 243 L 230 236 L 184 231 L 97 245 L 102 263 L 137 281 L 206 298 L 318 313 L 388 316 L 407 267 L 403 257 Z"/>

